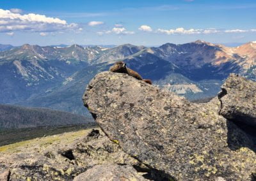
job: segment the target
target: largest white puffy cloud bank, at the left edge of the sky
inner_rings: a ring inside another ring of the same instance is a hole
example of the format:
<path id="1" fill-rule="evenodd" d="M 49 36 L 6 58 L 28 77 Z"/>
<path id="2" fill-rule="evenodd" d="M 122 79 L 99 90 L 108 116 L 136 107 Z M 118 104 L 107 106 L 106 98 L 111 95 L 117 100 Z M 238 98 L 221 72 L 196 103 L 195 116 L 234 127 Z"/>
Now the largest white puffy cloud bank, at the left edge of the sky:
<path id="1" fill-rule="evenodd" d="M 17 12 L 17 11 L 16 11 Z M 60 18 L 46 17 L 29 13 L 21 15 L 10 10 L 0 9 L 0 32 L 8 31 L 33 31 L 33 32 L 54 32 L 79 29 L 79 25 L 68 24 Z"/>

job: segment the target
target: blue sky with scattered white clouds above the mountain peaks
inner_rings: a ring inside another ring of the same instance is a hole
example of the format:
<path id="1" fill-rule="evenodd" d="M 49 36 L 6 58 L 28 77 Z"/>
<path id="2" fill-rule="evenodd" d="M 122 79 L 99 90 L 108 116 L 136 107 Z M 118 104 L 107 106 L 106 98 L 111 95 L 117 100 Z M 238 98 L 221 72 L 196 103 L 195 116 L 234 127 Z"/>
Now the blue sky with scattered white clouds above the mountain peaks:
<path id="1" fill-rule="evenodd" d="M 1 0 L 0 43 L 161 45 L 256 40 L 255 0 Z"/>

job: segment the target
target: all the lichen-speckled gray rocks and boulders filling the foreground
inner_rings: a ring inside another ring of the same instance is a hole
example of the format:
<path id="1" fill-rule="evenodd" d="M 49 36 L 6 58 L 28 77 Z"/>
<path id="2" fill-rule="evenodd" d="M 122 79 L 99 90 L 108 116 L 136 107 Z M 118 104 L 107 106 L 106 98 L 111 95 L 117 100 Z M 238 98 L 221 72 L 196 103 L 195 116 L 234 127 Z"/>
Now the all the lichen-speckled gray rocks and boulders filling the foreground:
<path id="1" fill-rule="evenodd" d="M 230 75 L 221 89 L 195 104 L 99 73 L 83 101 L 101 130 L 14 152 L 0 147 L 0 180 L 255 180 L 256 83 Z"/>

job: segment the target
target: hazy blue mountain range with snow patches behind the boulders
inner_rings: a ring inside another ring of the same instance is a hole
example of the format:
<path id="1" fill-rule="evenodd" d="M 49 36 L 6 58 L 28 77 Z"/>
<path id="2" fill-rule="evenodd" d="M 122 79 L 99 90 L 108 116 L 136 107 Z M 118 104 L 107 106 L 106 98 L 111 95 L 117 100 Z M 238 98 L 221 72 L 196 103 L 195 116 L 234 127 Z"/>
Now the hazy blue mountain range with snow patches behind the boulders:
<path id="1" fill-rule="evenodd" d="M 81 101 L 86 84 L 116 61 L 191 100 L 215 96 L 229 73 L 256 80 L 255 41 L 239 47 L 200 40 L 160 47 L 26 44 L 0 52 L 0 103 L 88 115 Z"/>

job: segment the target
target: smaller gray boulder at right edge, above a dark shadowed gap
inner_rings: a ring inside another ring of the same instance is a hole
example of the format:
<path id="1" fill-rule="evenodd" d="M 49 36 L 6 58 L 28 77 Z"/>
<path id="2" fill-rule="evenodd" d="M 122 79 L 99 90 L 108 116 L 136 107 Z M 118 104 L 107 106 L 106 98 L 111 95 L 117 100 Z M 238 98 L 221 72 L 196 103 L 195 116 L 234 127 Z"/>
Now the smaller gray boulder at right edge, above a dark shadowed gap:
<path id="1" fill-rule="evenodd" d="M 221 90 L 221 115 L 234 122 L 253 126 L 256 132 L 256 82 L 230 74 Z"/>

